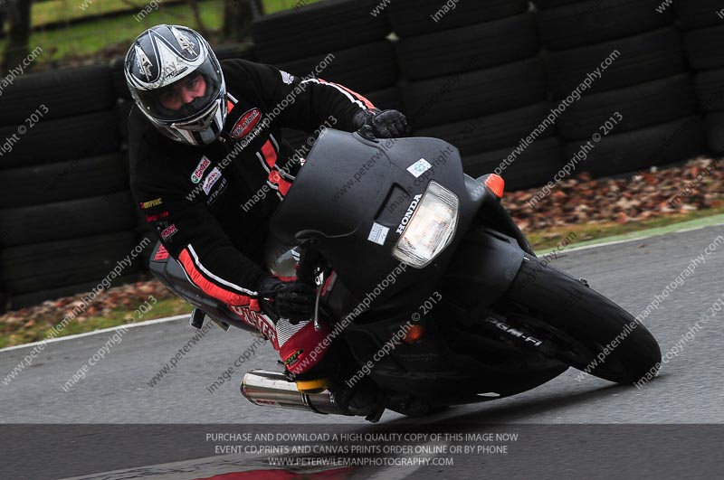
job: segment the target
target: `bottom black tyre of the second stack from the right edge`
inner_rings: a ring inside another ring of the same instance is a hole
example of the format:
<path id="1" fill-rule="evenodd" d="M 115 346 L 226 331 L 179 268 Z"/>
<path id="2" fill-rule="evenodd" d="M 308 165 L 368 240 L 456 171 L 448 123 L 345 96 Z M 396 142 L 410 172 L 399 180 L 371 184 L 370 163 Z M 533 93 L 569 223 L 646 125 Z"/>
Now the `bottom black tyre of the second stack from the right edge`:
<path id="1" fill-rule="evenodd" d="M 563 149 L 564 158 L 571 160 L 585 143 L 585 140 L 567 143 Z M 624 174 L 653 165 L 689 160 L 709 150 L 699 117 L 681 118 L 618 135 L 609 134 L 591 144 L 594 149 L 576 165 L 576 174 L 589 172 L 595 177 Z"/>

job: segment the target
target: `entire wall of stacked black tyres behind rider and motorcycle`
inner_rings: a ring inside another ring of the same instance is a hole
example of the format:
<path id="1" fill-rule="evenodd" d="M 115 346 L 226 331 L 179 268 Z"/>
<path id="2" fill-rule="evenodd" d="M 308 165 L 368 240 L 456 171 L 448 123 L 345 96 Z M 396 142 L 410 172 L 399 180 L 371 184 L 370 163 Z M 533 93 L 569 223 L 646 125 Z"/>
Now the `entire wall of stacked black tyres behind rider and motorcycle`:
<path id="1" fill-rule="evenodd" d="M 327 0 L 258 19 L 252 50 L 214 51 L 402 110 L 412 135 L 457 146 L 466 173 L 504 165 L 519 189 L 551 181 L 606 122 L 576 173 L 724 153 L 721 3 L 673 4 Z M 20 307 L 97 285 L 153 238 L 129 193 L 122 66 L 27 74 L 0 95 L 0 309 L 8 296 Z M 313 145 L 308 133 L 284 135 Z M 138 275 L 149 254 L 119 278 Z"/>

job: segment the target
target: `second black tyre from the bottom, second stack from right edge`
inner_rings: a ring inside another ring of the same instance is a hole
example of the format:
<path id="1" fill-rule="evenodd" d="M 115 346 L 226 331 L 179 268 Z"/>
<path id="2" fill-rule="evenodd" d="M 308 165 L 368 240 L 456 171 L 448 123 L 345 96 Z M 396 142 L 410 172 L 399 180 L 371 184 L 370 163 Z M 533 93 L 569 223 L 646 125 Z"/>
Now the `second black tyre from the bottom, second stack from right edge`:
<path id="1" fill-rule="evenodd" d="M 616 116 L 615 133 L 637 130 L 684 118 L 696 112 L 697 102 L 689 75 L 654 80 L 626 89 L 586 95 L 558 120 L 560 136 L 567 140 L 590 138 L 605 121 Z"/>

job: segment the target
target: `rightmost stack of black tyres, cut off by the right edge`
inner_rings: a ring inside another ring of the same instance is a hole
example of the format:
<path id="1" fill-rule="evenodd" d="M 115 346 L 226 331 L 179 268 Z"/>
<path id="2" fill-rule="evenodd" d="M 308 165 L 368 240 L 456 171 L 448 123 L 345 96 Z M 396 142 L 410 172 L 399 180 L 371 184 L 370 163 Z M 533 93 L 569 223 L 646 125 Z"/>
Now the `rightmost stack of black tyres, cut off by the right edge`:
<path id="1" fill-rule="evenodd" d="M 684 47 L 696 71 L 696 94 L 706 120 L 710 150 L 724 155 L 724 4 L 720 0 L 676 3 L 685 29 Z"/>

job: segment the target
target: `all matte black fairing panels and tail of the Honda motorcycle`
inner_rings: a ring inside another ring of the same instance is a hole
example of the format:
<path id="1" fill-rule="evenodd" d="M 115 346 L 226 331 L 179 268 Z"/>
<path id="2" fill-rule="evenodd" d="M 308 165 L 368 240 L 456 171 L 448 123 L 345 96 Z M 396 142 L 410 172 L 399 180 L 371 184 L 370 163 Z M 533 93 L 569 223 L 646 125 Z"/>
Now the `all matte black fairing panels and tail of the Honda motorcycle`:
<path id="1" fill-rule="evenodd" d="M 415 177 L 407 168 L 421 158 L 433 167 Z M 459 199 L 451 244 L 427 267 L 406 267 L 394 287 L 376 288 L 395 268 L 399 271 L 400 262 L 392 256 L 400 237 L 396 230 L 414 196 L 424 193 L 431 180 Z M 491 400 L 481 393 L 495 392 L 500 398 L 526 391 L 567 369 L 538 353 L 488 338 L 472 323 L 510 286 L 524 251 L 530 251 L 483 181 L 464 175 L 457 149 L 439 139 L 375 141 L 327 130 L 271 219 L 277 240 L 319 251 L 336 271 L 331 294 L 321 305 L 323 318 L 340 318 L 368 294 L 379 292 L 370 315 L 357 317 L 344 330 L 349 353 L 359 365 L 375 358 L 433 289 L 442 292 L 446 303 L 420 320 L 424 337 L 415 344 L 396 345 L 369 374 L 399 396 L 391 405 L 412 398 L 439 405 Z M 374 222 L 389 228 L 382 245 L 368 240 Z M 267 247 L 277 259 L 281 249 L 276 242 Z M 253 330 L 221 301 L 189 283 L 177 262 L 158 259 L 157 254 L 158 247 L 151 271 L 177 295 L 214 318 Z"/>

